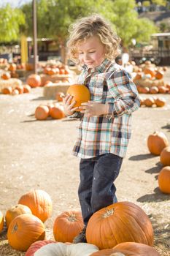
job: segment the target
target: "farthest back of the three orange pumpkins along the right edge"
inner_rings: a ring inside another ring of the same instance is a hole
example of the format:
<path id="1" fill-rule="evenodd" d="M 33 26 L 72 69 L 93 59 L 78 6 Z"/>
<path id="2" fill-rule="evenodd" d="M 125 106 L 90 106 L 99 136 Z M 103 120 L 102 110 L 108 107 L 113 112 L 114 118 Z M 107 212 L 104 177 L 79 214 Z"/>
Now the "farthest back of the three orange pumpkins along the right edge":
<path id="1" fill-rule="evenodd" d="M 163 132 L 154 132 L 147 138 L 147 147 L 151 154 L 160 155 L 166 146 L 169 146 L 169 141 Z"/>

